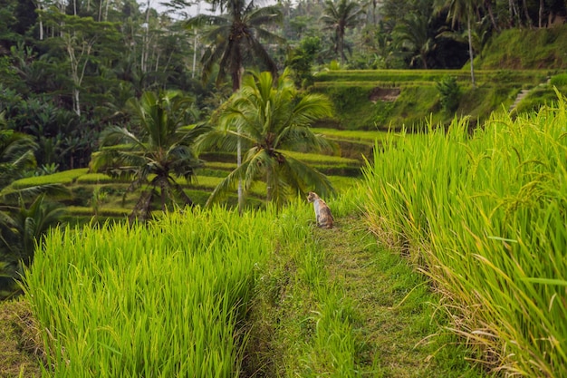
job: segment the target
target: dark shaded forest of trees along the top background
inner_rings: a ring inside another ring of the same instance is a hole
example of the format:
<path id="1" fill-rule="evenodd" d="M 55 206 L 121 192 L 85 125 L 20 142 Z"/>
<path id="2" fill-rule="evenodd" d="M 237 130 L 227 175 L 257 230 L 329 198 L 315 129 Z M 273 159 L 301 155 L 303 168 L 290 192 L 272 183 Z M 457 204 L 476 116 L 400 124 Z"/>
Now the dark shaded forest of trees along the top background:
<path id="1" fill-rule="evenodd" d="M 212 1 L 199 9 L 230 18 L 230 4 Z M 231 93 L 212 80 L 218 64 L 208 67 L 211 79 L 201 81 L 201 58 L 211 44 L 205 37 L 215 23 L 188 27 L 188 1 L 159 5 L 160 12 L 153 2 L 134 0 L 2 0 L 0 5 L 0 122 L 34 137 L 37 167 L 43 171 L 87 166 L 99 133 L 108 125 L 127 125 L 124 105 L 144 91 L 185 92 L 194 98 L 197 120 L 207 120 Z M 245 5 L 256 8 L 254 2 Z M 548 27 L 566 15 L 563 1 L 549 0 L 285 1 L 278 6 L 283 22 L 268 29 L 286 44 L 257 37 L 277 69 L 291 66 L 303 85 L 313 70 L 332 64 L 460 68 L 469 57 L 467 35 L 478 54 L 493 34 Z M 258 66 L 252 55 L 242 59 L 245 68 Z M 41 170 L 20 173 L 36 172 Z"/>

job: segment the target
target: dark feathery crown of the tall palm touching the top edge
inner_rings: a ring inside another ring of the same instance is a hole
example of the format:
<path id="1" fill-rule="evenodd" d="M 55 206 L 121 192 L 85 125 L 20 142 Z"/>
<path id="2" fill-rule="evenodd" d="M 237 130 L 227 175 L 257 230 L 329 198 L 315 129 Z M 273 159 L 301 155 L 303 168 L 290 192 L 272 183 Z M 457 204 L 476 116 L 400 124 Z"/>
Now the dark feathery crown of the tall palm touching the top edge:
<path id="1" fill-rule="evenodd" d="M 206 82 L 218 63 L 216 82 L 223 82 L 228 73 L 233 92 L 236 92 L 240 88 L 246 58 L 255 58 L 271 73 L 277 73 L 276 64 L 260 39 L 285 43 L 283 38 L 264 28 L 265 25 L 282 22 L 283 14 L 277 5 L 258 8 L 254 0 L 230 0 L 223 4 L 226 6 L 225 15 L 197 15 L 187 22 L 187 26 L 213 26 L 203 35 L 210 44 L 201 58 L 202 79 Z"/>

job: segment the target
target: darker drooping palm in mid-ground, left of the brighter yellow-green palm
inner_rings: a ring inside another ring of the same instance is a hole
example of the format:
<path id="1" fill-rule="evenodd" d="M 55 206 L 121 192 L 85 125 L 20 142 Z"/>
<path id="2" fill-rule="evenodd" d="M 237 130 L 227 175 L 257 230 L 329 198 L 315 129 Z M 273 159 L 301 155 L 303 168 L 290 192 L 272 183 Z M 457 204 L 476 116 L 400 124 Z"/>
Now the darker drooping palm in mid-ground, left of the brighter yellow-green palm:
<path id="1" fill-rule="evenodd" d="M 144 92 L 140 100 L 129 101 L 139 123 L 139 135 L 118 126 L 101 134 L 101 150 L 93 156 L 92 169 L 130 178 L 125 196 L 146 186 L 130 214 L 130 222 L 149 218 L 152 200 L 158 194 L 163 210 L 168 199 L 193 204 L 176 179 L 195 179 L 195 169 L 201 163 L 193 144 L 208 127 L 186 126 L 189 104 L 190 99 L 179 92 Z"/>

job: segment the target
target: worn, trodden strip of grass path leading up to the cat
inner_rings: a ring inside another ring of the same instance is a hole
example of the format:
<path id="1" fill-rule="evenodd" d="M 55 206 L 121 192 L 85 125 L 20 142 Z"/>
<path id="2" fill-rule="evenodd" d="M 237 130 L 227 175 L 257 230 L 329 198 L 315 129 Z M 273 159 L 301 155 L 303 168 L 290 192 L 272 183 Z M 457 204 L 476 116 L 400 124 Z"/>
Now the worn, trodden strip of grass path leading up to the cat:
<path id="1" fill-rule="evenodd" d="M 425 277 L 404 257 L 380 248 L 360 217 L 340 219 L 338 226 L 321 243 L 329 280 L 356 304 L 364 345 L 360 376 L 482 376 L 452 336 L 429 337 L 440 327 L 432 317 L 438 299 Z"/>

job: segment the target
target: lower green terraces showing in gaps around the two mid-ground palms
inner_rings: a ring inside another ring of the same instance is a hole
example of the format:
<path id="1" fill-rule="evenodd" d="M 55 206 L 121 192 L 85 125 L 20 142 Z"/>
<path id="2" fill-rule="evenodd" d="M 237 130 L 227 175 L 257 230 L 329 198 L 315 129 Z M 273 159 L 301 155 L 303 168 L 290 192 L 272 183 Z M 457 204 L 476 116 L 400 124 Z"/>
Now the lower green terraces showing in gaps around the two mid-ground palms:
<path id="1" fill-rule="evenodd" d="M 348 143 L 348 141 L 345 141 L 345 143 Z M 354 145 L 360 144 L 354 140 L 352 143 Z M 370 158 L 370 141 L 367 140 L 360 145 L 366 146 L 366 158 Z M 358 150 L 357 148 L 354 149 Z M 341 149 L 339 148 L 335 151 L 335 154 L 338 155 L 340 152 Z M 354 185 L 357 177 L 360 176 L 360 165 L 363 160 L 361 154 L 358 155 L 358 159 L 299 152 L 293 153 L 293 156 L 326 174 L 331 179 L 335 189 L 347 189 Z M 215 153 L 204 154 L 202 159 L 205 160 L 205 165 L 202 169 L 197 170 L 195 181 L 187 182 L 185 179 L 178 179 L 189 198 L 200 206 L 205 205 L 213 189 L 230 171 L 236 168 L 236 159 L 231 154 L 224 156 Z M 88 222 L 91 221 L 91 218 L 95 220 L 112 218 L 123 220 L 134 208 L 141 190 L 129 191 L 130 181 L 111 178 L 103 173 L 91 173 L 87 168 L 19 179 L 12 183 L 12 188 L 24 189 L 53 184 L 62 185 L 69 191 L 67 196 L 62 196 L 58 200 L 67 210 L 66 220 L 72 223 Z M 257 183 L 249 192 L 247 205 L 251 208 L 257 208 L 264 203 L 264 198 L 265 186 L 263 183 Z M 229 207 L 235 206 L 236 203 L 236 194 L 227 199 Z M 159 208 L 158 204 L 154 207 L 155 210 L 159 210 Z"/>

